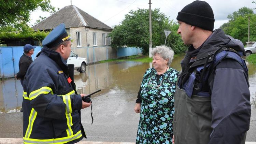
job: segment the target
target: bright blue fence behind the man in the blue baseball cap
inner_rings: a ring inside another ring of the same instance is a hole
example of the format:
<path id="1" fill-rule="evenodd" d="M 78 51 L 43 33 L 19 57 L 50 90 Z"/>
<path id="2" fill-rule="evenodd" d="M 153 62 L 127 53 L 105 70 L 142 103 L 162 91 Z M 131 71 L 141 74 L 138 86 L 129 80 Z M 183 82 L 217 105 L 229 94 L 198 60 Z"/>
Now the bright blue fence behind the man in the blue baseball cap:
<path id="1" fill-rule="evenodd" d="M 35 48 L 32 59 L 41 50 L 40 46 Z M 19 58 L 23 55 L 23 46 L 0 47 L 0 78 L 14 77 L 19 71 Z"/>

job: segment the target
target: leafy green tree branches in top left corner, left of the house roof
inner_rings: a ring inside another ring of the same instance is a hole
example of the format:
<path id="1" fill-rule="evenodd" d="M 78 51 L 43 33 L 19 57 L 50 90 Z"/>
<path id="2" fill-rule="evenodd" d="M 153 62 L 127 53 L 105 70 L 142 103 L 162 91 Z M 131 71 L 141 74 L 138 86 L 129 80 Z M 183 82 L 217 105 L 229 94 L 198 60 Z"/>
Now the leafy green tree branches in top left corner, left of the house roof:
<path id="1" fill-rule="evenodd" d="M 0 0 L 0 7 L 0 30 L 6 26 L 13 26 L 18 29 L 28 27 L 30 12 L 35 10 L 55 11 L 50 0 Z"/>

